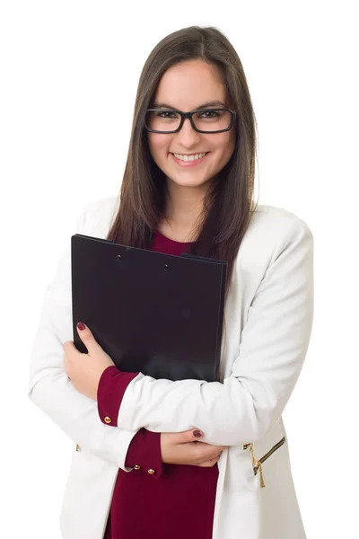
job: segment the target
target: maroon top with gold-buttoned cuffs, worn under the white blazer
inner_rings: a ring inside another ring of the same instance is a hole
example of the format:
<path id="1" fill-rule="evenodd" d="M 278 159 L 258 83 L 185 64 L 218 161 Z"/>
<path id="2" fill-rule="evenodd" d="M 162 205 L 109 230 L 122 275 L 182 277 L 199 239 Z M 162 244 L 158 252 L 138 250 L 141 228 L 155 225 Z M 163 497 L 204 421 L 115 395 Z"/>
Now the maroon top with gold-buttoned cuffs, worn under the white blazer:
<path id="1" fill-rule="evenodd" d="M 188 243 L 154 235 L 152 251 L 180 255 L 187 250 Z M 115 366 L 103 372 L 97 402 L 101 421 L 109 428 L 117 428 L 123 395 L 137 375 Z M 133 437 L 125 462 L 133 470 L 118 469 L 103 539 L 212 539 L 217 464 L 210 468 L 164 464 L 160 437 L 146 429 Z"/>

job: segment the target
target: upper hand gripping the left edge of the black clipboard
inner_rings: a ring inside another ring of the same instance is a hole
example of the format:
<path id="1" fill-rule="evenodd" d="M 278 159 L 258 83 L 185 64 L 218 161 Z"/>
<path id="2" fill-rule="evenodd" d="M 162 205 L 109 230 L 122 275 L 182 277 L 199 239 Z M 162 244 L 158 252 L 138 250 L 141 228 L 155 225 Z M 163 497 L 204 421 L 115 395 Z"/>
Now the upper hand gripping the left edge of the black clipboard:
<path id="1" fill-rule="evenodd" d="M 79 352 L 74 346 L 74 342 L 67 340 L 64 343 L 65 370 L 77 391 L 97 401 L 97 389 L 101 375 L 107 367 L 115 364 L 109 354 L 95 340 L 92 331 L 87 326 L 84 330 L 80 330 L 77 325 L 77 332 L 88 350 L 88 354 Z"/>

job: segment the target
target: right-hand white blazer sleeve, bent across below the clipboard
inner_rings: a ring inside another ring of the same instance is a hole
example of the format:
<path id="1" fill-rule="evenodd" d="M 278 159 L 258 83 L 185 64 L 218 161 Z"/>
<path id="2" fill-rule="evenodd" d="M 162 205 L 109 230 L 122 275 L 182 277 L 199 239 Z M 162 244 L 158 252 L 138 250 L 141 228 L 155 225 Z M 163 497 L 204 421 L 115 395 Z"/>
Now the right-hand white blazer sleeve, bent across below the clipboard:
<path id="1" fill-rule="evenodd" d="M 231 375 L 220 382 L 172 382 L 140 373 L 118 411 L 121 429 L 180 432 L 237 446 L 265 436 L 285 409 L 302 370 L 313 320 L 313 237 L 301 219 L 285 221 L 250 304 Z"/>

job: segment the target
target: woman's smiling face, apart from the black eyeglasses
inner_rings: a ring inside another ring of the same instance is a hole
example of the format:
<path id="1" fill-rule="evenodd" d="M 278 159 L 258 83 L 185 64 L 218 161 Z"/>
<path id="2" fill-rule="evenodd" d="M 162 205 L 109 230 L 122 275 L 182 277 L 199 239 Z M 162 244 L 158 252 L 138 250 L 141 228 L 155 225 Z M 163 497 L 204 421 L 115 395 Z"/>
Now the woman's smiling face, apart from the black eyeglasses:
<path id="1" fill-rule="evenodd" d="M 216 66 L 202 60 L 189 60 L 171 66 L 163 75 L 154 96 L 153 108 L 167 108 L 188 112 L 198 110 L 206 102 L 218 102 L 211 108 L 232 109 L 225 86 Z M 235 145 L 235 124 L 223 133 L 197 133 L 189 119 L 178 133 L 148 133 L 153 161 L 165 173 L 168 181 L 183 187 L 205 188 L 208 182 L 230 160 Z M 176 161 L 173 154 L 193 155 L 208 152 L 197 164 L 186 166 Z"/>

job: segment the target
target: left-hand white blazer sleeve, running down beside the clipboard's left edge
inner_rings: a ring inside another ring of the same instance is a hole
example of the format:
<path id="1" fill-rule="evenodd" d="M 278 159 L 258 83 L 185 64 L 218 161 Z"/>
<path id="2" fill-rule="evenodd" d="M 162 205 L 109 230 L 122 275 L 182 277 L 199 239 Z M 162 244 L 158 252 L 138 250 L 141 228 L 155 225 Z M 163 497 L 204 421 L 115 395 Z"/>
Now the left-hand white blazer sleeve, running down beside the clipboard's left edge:
<path id="1" fill-rule="evenodd" d="M 99 202 L 83 208 L 74 234 L 86 234 L 87 219 Z M 31 351 L 28 395 L 40 410 L 84 449 L 129 472 L 127 448 L 138 429 L 112 429 L 101 422 L 97 402 L 74 388 L 64 368 L 63 344 L 74 340 L 72 328 L 71 244 L 47 287 Z"/>

